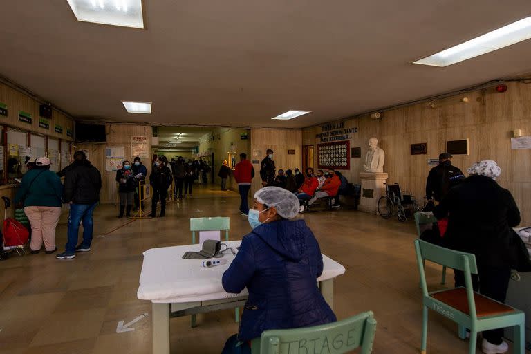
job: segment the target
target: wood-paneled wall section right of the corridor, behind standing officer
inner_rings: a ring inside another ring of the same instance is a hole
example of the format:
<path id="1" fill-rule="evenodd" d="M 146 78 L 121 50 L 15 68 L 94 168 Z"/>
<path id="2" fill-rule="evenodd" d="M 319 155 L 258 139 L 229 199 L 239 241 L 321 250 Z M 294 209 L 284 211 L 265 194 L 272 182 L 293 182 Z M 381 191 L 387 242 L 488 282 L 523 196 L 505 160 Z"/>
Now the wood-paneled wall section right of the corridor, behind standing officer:
<path id="1" fill-rule="evenodd" d="M 302 168 L 302 130 L 301 129 L 251 129 L 251 148 L 249 159 L 253 162 L 256 176 L 252 182 L 251 192 L 261 188 L 260 162 L 265 158 L 267 149 L 274 152 L 274 164 L 279 169 Z M 288 150 L 295 150 L 295 155 L 288 155 Z M 258 163 L 256 163 L 258 161 Z"/>

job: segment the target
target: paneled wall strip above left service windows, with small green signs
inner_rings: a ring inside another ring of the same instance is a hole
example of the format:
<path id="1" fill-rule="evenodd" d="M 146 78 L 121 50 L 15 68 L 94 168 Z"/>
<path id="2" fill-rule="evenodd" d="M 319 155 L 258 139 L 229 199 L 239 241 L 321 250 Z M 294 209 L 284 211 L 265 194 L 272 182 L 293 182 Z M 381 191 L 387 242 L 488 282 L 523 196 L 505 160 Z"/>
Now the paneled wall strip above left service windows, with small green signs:
<path id="1" fill-rule="evenodd" d="M 21 93 L 6 84 L 0 82 L 0 102 L 7 104 L 8 116 L 0 115 L 0 124 L 7 124 L 10 127 L 20 128 L 26 131 L 43 134 L 53 138 L 60 138 L 63 140 L 72 141 L 71 137 L 66 136 L 66 130 L 73 131 L 73 120 L 63 113 L 52 111 L 52 119 L 48 120 L 50 129 L 39 127 L 39 106 L 40 102 L 34 100 L 32 97 Z M 19 111 L 30 113 L 32 116 L 32 123 L 21 122 L 19 120 Z M 55 125 L 60 125 L 63 129 L 62 133 L 55 132 Z"/>

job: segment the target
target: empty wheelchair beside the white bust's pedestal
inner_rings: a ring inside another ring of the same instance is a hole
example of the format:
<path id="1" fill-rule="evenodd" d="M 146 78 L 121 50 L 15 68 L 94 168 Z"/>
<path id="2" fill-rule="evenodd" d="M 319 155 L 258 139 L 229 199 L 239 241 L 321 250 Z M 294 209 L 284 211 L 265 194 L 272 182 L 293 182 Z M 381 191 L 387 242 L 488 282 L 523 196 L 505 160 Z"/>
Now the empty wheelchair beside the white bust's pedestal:
<path id="1" fill-rule="evenodd" d="M 412 213 L 420 212 L 421 207 L 417 204 L 416 198 L 411 192 L 400 190 L 400 185 L 385 184 L 385 196 L 378 199 L 378 214 L 382 218 L 390 218 L 393 215 L 398 216 L 398 221 L 404 223 L 406 218 L 406 208 L 411 209 Z"/>

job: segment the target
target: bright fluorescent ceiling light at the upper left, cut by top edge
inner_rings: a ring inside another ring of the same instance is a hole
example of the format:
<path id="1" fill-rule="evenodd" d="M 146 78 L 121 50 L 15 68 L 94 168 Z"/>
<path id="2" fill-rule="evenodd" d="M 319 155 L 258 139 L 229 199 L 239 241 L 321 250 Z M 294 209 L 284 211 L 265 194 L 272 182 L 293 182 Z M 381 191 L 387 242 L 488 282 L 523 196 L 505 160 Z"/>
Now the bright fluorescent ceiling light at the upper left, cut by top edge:
<path id="1" fill-rule="evenodd" d="M 77 21 L 144 28 L 142 0 L 67 0 Z"/>

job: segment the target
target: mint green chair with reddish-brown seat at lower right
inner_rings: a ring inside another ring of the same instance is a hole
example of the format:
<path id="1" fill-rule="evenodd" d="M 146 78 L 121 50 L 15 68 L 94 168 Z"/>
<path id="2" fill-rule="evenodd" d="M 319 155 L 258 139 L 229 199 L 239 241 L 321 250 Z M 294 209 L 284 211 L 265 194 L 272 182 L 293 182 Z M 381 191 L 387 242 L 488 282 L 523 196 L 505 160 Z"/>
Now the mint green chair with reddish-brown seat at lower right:
<path id="1" fill-rule="evenodd" d="M 470 329 L 469 354 L 476 353 L 478 332 L 496 328 L 515 326 L 514 351 L 523 354 L 525 350 L 525 316 L 516 308 L 485 297 L 472 288 L 472 274 L 478 274 L 474 254 L 449 250 L 421 240 L 415 240 L 418 271 L 422 285 L 422 343 L 420 353 L 426 354 L 428 309 L 457 322 L 460 337 L 464 337 L 465 328 Z M 424 261 L 432 261 L 465 273 L 466 287 L 428 292 Z"/>

